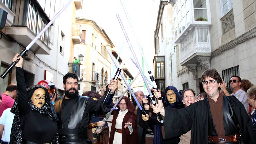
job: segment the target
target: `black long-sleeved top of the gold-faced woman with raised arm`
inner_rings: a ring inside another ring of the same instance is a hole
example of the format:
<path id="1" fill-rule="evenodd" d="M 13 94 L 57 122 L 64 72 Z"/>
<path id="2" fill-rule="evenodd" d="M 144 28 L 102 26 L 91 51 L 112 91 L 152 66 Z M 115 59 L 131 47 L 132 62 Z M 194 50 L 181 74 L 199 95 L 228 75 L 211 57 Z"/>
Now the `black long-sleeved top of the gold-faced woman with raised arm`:
<path id="1" fill-rule="evenodd" d="M 50 143 L 52 142 L 57 127 L 47 115 L 41 115 L 39 112 L 30 108 L 26 83 L 24 79 L 23 69 L 16 67 L 17 73 L 17 89 L 18 89 L 18 107 L 22 128 L 23 140 L 34 143 Z"/>

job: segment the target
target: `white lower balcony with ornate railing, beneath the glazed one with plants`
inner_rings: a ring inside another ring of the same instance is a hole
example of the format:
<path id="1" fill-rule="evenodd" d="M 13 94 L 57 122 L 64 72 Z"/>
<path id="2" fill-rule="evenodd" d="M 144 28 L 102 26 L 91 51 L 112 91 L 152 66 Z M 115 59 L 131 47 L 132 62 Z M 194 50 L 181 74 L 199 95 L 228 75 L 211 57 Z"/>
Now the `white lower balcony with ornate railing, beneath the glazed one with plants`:
<path id="1" fill-rule="evenodd" d="M 199 57 L 211 55 L 209 28 L 194 27 L 180 42 L 181 65 L 197 64 Z"/>

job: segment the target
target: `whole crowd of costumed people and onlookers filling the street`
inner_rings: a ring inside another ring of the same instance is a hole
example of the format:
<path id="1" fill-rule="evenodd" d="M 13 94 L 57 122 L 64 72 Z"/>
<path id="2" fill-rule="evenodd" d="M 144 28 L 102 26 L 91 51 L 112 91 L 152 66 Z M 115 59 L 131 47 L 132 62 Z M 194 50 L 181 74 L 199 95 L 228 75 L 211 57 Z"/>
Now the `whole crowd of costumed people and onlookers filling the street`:
<path id="1" fill-rule="evenodd" d="M 227 87 L 217 70 L 208 69 L 200 78 L 204 92 L 198 95 L 168 86 L 164 92 L 152 88 L 152 99 L 138 90 L 134 103 L 122 97 L 104 122 L 114 105 L 117 80 L 100 93 L 80 96 L 77 75 L 67 73 L 65 95 L 56 100 L 56 87 L 47 80 L 26 88 L 23 59 L 16 54 L 13 61 L 18 62 L 17 85 L 9 84 L 0 95 L 2 144 L 256 143 L 256 86 L 239 76 L 232 76 Z M 110 99 L 103 103 L 108 90 Z"/>

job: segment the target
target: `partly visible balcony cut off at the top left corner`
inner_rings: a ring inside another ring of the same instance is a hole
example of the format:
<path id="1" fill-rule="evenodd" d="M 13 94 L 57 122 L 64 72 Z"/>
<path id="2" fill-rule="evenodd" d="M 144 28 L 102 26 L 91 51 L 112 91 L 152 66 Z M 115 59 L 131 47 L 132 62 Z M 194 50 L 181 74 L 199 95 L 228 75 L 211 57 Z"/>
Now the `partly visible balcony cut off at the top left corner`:
<path id="1" fill-rule="evenodd" d="M 12 26 L 15 17 L 15 14 L 12 12 L 13 0 L 0 0 L 0 8 L 8 13 L 5 26 Z"/>

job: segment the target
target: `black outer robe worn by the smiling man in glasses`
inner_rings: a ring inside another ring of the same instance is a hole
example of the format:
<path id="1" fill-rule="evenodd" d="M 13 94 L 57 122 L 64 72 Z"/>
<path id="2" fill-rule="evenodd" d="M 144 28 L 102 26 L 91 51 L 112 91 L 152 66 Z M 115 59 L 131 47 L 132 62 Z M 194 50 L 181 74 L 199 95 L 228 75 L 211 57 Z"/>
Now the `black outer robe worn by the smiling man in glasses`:
<path id="1" fill-rule="evenodd" d="M 224 96 L 229 99 L 237 119 L 243 140 L 246 144 L 256 144 L 256 132 L 243 104 L 234 96 Z M 191 130 L 191 144 L 208 143 L 208 99 L 190 104 L 184 109 L 165 107 L 165 125 L 163 137 L 169 139 L 187 133 Z M 224 107 L 224 104 L 223 104 Z M 225 127 L 224 122 L 224 127 Z M 226 129 L 225 129 L 226 131 Z"/>

